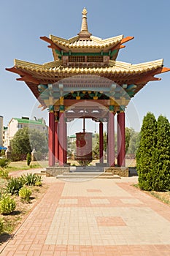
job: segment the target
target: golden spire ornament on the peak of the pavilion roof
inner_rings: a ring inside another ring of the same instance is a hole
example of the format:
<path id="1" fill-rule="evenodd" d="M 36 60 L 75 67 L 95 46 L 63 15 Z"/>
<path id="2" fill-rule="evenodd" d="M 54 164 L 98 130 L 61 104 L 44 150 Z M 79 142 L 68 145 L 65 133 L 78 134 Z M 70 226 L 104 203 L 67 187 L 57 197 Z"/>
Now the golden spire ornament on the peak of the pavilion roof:
<path id="1" fill-rule="evenodd" d="M 82 10 L 82 27 L 80 33 L 78 34 L 80 40 L 90 40 L 91 33 L 88 31 L 87 14 L 88 11 L 84 7 Z"/>

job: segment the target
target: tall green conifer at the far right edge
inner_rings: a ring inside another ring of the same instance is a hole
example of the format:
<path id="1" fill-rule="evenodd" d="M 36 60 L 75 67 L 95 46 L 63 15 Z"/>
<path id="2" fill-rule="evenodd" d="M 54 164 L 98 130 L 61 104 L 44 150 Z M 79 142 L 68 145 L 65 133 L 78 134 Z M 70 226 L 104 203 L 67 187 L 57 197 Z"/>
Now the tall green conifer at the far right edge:
<path id="1" fill-rule="evenodd" d="M 157 145 L 152 156 L 152 189 L 170 190 L 170 124 L 164 116 L 158 117 Z"/>

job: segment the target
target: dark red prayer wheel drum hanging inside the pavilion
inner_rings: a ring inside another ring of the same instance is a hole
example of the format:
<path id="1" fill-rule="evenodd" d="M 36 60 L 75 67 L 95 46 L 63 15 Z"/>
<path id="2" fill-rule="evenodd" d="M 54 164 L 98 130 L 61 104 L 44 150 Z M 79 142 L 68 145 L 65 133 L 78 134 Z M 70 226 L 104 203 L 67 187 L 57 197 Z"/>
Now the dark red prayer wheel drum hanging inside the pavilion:
<path id="1" fill-rule="evenodd" d="M 76 133 L 77 160 L 92 160 L 92 133 L 78 132 Z"/>

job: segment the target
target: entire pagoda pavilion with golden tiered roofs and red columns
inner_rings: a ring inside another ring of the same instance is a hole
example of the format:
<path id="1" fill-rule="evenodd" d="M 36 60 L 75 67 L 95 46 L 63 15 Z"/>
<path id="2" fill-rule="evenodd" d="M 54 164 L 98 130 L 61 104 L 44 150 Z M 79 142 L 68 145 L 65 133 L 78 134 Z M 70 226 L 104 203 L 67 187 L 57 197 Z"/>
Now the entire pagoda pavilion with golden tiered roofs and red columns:
<path id="1" fill-rule="evenodd" d="M 87 10 L 82 10 L 76 37 L 40 37 L 54 60 L 34 64 L 15 59 L 7 69 L 20 75 L 42 109 L 49 110 L 49 166 L 66 165 L 66 124 L 74 118 L 93 118 L 99 124 L 100 163 L 104 161 L 103 123 L 107 122 L 107 164 L 115 166 L 115 116 L 117 116 L 117 166 L 125 166 L 125 108 L 155 75 L 170 69 L 163 59 L 142 64 L 117 61 L 119 50 L 134 37 L 101 39 L 88 31 Z M 85 132 L 85 126 L 83 127 Z"/>

